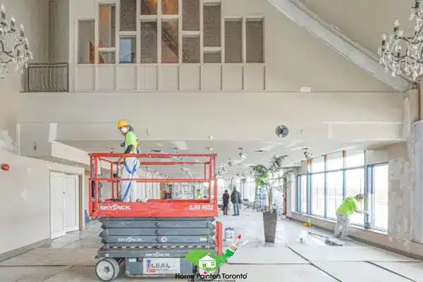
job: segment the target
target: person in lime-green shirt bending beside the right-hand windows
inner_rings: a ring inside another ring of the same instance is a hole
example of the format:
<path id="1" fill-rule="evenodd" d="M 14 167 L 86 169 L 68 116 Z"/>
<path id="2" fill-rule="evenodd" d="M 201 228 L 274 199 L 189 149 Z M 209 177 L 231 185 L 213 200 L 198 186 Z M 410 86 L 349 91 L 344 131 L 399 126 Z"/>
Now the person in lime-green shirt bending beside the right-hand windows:
<path id="1" fill-rule="evenodd" d="M 350 230 L 350 216 L 355 212 L 357 214 L 367 214 L 366 211 L 358 209 L 359 203 L 364 199 L 364 195 L 357 194 L 355 197 L 347 197 L 336 210 L 335 236 L 343 240 L 348 240 L 348 231 Z"/>

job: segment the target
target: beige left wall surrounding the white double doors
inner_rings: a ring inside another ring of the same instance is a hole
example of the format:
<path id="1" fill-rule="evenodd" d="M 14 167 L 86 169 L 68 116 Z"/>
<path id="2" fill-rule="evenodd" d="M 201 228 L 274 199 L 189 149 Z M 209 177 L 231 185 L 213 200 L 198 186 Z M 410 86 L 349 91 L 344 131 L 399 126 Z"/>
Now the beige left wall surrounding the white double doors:
<path id="1" fill-rule="evenodd" d="M 49 172 L 84 175 L 84 169 L 18 157 L 0 149 L 0 254 L 50 238 Z M 82 181 L 83 183 L 83 181 Z M 85 189 L 85 185 L 82 187 Z"/>

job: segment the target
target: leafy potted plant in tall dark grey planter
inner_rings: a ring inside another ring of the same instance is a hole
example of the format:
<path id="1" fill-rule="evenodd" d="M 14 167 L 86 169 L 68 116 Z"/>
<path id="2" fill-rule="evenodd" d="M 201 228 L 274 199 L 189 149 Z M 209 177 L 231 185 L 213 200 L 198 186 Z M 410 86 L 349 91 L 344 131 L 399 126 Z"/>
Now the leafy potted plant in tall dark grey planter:
<path id="1" fill-rule="evenodd" d="M 256 190 L 262 189 L 267 192 L 268 209 L 263 212 L 264 240 L 266 243 L 275 243 L 278 214 L 274 212 L 273 207 L 274 191 L 279 190 L 286 193 L 288 173 L 290 173 L 290 171 L 282 173 L 283 161 L 286 157 L 288 156 L 272 157 L 268 167 L 262 164 L 252 166 Z"/>

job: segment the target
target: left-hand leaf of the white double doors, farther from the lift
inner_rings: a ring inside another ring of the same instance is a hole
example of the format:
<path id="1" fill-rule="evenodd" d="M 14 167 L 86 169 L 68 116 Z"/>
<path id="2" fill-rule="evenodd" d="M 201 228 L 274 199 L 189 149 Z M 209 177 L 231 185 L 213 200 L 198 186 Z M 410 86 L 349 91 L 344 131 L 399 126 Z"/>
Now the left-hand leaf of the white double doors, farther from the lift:
<path id="1" fill-rule="evenodd" d="M 66 235 L 65 232 L 65 175 L 50 173 L 50 233 L 51 239 Z"/>

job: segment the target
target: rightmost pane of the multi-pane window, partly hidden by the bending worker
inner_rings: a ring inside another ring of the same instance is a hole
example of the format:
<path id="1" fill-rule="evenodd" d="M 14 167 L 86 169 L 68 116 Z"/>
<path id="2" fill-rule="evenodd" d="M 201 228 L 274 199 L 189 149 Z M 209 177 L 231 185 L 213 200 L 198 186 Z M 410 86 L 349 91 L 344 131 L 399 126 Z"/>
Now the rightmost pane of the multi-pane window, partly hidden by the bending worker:
<path id="1" fill-rule="evenodd" d="M 345 171 L 345 187 L 347 192 L 346 197 L 354 197 L 360 193 L 364 195 L 364 168 Z M 364 209 L 364 200 L 359 202 L 358 209 Z M 351 222 L 358 225 L 364 225 L 364 214 L 353 214 L 353 216 L 351 216 Z"/>

